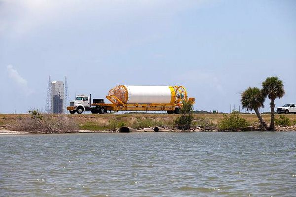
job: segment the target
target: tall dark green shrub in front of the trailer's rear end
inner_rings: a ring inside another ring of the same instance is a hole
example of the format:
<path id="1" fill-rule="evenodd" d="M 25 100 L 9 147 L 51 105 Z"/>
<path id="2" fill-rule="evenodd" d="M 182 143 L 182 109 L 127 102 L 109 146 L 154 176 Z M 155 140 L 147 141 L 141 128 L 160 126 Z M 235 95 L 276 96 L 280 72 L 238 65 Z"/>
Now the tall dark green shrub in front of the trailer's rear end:
<path id="1" fill-rule="evenodd" d="M 192 103 L 188 101 L 183 101 L 183 106 L 181 108 L 181 116 L 178 116 L 174 123 L 175 126 L 183 131 L 189 130 L 192 127 L 193 116 L 192 116 L 193 106 Z"/>

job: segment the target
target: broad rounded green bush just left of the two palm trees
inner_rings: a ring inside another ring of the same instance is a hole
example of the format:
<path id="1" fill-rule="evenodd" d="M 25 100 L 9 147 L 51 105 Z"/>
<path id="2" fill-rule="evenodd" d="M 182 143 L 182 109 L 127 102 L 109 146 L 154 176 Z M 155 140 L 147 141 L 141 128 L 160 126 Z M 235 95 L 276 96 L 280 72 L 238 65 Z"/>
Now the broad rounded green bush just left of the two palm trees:
<path id="1" fill-rule="evenodd" d="M 218 124 L 220 130 L 238 131 L 249 126 L 246 119 L 239 117 L 238 113 L 231 113 L 230 115 L 223 115 L 223 119 Z"/>

